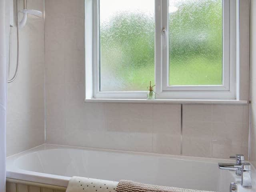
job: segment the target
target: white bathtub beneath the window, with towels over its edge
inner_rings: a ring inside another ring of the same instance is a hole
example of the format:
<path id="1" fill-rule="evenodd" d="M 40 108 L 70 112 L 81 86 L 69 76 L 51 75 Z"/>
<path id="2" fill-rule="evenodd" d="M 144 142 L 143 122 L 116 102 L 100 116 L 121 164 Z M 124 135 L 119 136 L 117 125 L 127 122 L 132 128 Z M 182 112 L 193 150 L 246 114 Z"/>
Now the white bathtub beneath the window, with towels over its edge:
<path id="1" fill-rule="evenodd" d="M 253 188 L 246 189 L 240 176 L 220 170 L 218 162 L 234 161 L 44 144 L 8 157 L 6 175 L 64 187 L 70 177 L 82 176 L 217 192 L 229 192 L 230 183 L 236 182 L 238 192 L 256 191 L 253 167 Z"/>

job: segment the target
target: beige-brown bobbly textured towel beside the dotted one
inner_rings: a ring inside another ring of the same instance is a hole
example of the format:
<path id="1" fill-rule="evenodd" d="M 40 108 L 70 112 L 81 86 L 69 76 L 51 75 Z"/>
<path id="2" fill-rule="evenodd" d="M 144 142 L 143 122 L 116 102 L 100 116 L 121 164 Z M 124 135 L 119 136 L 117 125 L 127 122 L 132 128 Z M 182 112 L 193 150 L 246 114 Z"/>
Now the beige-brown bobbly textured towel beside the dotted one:
<path id="1" fill-rule="evenodd" d="M 120 180 L 116 187 L 116 192 L 209 192 L 194 189 L 183 189 L 177 187 L 166 187 L 137 183 L 129 180 Z"/>

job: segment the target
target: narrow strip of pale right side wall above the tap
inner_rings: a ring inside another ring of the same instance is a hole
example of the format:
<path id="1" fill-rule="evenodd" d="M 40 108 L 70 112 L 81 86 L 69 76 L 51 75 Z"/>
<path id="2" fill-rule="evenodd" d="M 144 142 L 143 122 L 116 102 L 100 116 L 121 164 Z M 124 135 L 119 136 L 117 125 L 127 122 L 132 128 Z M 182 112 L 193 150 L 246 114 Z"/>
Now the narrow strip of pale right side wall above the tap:
<path id="1" fill-rule="evenodd" d="M 256 167 L 256 1 L 251 0 L 251 149 L 250 161 Z"/>

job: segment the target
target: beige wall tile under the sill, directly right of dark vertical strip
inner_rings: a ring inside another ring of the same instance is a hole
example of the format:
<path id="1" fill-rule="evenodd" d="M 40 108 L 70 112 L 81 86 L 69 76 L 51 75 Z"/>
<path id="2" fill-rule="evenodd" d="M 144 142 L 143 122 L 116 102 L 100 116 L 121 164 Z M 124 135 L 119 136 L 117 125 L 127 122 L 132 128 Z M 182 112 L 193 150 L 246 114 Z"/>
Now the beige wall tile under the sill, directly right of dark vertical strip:
<path id="1" fill-rule="evenodd" d="M 182 110 L 186 121 L 212 121 L 212 105 L 183 104 Z"/>

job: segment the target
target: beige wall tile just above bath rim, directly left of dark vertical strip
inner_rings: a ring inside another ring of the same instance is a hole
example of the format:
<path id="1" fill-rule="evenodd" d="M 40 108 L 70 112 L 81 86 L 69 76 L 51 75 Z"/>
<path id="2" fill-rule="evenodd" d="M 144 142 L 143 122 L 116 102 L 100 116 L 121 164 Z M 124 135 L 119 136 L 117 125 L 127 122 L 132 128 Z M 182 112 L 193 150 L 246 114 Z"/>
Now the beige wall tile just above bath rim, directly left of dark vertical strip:
<path id="1" fill-rule="evenodd" d="M 180 155 L 181 136 L 174 134 L 153 134 L 153 152 Z"/>

